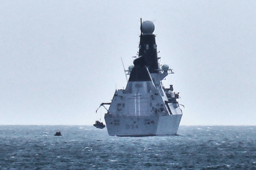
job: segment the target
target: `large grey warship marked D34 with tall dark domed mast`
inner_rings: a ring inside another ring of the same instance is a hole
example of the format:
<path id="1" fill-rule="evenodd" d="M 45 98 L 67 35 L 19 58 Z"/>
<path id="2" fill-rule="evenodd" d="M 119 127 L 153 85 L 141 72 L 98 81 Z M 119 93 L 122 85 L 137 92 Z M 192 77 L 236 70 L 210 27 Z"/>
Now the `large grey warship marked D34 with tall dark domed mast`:
<path id="1" fill-rule="evenodd" d="M 173 85 L 164 88 L 162 80 L 173 70 L 160 64 L 152 21 L 140 19 L 139 52 L 126 74 L 125 89 L 116 90 L 104 115 L 108 134 L 119 137 L 176 135 L 182 117 Z"/>

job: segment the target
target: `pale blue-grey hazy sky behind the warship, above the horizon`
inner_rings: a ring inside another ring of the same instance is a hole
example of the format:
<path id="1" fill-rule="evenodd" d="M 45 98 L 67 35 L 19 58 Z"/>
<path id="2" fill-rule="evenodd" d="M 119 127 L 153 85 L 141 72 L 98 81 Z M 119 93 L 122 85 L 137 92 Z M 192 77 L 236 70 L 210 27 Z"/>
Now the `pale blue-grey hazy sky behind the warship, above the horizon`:
<path id="1" fill-rule="evenodd" d="M 175 72 L 180 125 L 256 125 L 256 1 L 2 0 L 0 125 L 92 125 L 126 87 L 140 18 Z"/>

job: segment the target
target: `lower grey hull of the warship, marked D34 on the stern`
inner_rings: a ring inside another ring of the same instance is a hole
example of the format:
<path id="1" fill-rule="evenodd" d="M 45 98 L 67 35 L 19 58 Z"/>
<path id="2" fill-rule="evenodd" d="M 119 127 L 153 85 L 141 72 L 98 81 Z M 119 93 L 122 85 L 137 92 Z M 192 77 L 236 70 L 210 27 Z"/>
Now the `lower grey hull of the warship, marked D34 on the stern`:
<path id="1" fill-rule="evenodd" d="M 182 115 L 111 117 L 105 115 L 110 136 L 145 137 L 176 135 Z"/>

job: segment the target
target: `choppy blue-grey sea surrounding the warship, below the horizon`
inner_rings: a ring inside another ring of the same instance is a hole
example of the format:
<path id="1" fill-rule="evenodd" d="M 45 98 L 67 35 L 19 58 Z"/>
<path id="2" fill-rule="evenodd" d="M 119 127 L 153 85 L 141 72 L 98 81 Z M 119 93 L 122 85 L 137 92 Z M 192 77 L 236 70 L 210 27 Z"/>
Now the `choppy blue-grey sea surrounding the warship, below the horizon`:
<path id="1" fill-rule="evenodd" d="M 93 126 L 2 125 L 0 169 L 256 169 L 256 127 L 180 126 L 176 136 L 110 137 Z"/>

